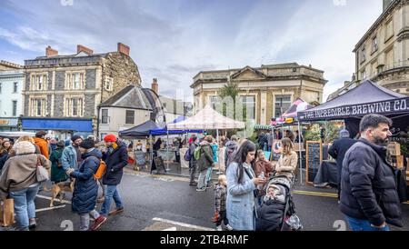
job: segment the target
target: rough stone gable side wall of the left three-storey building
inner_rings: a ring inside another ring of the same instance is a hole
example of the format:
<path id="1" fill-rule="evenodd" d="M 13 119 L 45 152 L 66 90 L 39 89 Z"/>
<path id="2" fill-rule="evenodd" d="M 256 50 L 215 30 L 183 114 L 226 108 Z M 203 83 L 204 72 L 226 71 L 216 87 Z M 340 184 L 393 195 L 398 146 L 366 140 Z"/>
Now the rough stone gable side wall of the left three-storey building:
<path id="1" fill-rule="evenodd" d="M 114 79 L 113 91 L 107 91 L 104 88 L 102 102 L 118 93 L 126 85 L 141 85 L 141 77 L 138 67 L 131 57 L 119 52 L 109 53 L 105 56 L 102 75 L 102 86 L 106 77 Z"/>

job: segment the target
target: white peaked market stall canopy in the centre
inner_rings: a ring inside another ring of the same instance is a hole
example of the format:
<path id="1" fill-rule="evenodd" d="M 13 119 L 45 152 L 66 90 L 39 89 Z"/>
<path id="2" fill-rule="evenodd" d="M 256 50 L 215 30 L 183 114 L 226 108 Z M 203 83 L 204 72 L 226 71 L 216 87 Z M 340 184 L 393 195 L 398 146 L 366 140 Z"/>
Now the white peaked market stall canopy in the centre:
<path id="1" fill-rule="evenodd" d="M 216 112 L 210 105 L 196 115 L 189 117 L 183 122 L 168 124 L 169 130 L 220 130 L 220 129 L 244 129 L 244 122 L 236 121 Z"/>

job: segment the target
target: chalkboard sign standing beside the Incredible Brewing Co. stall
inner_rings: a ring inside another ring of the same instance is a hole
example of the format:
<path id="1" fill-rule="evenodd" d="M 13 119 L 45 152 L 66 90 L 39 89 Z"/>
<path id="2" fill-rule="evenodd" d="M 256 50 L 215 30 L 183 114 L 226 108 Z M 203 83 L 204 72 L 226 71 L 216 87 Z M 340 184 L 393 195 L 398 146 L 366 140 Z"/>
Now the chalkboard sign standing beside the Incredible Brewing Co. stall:
<path id="1" fill-rule="evenodd" d="M 320 141 L 308 141 L 306 145 L 306 182 L 313 184 L 323 162 L 323 144 Z"/>

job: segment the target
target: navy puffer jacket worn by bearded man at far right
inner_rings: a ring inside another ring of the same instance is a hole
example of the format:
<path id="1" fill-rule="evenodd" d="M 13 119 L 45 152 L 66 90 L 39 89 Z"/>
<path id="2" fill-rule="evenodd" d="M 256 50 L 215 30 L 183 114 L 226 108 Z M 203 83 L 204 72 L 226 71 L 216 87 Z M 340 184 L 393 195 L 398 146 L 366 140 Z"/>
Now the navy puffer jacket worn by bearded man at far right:
<path id="1" fill-rule="evenodd" d="M 403 226 L 394 168 L 386 147 L 361 138 L 345 154 L 341 177 L 341 212 L 374 225 Z"/>

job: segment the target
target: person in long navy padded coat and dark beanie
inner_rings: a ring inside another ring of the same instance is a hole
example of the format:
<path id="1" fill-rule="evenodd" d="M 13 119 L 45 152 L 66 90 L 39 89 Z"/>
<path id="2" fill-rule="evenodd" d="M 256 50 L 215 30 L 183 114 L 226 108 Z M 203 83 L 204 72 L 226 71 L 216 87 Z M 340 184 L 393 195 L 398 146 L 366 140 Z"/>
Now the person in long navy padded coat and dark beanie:
<path id="1" fill-rule="evenodd" d="M 95 149 L 95 142 L 92 139 L 85 139 L 79 144 L 79 150 L 83 161 L 77 170 L 67 171 L 71 177 L 75 178 L 72 211 L 80 216 L 81 231 L 96 230 L 106 221 L 106 217 L 95 210 L 98 184 L 94 175 L 103 155 Z M 90 216 L 95 219 L 95 224 L 89 229 Z"/>

